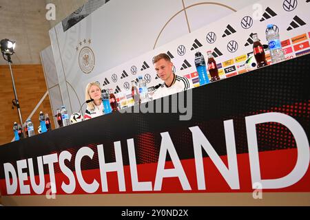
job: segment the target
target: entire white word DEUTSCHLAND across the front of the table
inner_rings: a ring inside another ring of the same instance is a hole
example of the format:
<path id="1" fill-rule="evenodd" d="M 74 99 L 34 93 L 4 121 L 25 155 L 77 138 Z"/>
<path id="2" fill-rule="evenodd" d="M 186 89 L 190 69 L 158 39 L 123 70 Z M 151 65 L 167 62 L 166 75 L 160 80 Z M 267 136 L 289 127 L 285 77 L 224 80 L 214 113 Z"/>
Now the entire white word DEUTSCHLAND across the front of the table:
<path id="1" fill-rule="evenodd" d="M 278 179 L 262 179 L 260 172 L 260 160 L 258 153 L 258 140 L 256 136 L 256 124 L 266 123 L 266 122 L 278 122 L 287 127 L 293 134 L 293 137 L 296 140 L 297 146 L 297 161 L 296 166 L 291 170 L 291 172 L 285 177 L 280 177 Z M 296 184 L 304 177 L 305 173 L 309 168 L 310 161 L 310 150 L 309 150 L 309 141 L 307 140 L 307 135 L 302 129 L 302 126 L 291 116 L 284 113 L 262 113 L 258 115 L 251 115 L 245 117 L 245 126 L 247 131 L 247 142 L 249 146 L 249 165 L 251 172 L 251 181 L 252 188 L 256 188 L 256 183 L 261 184 L 261 189 L 275 189 L 275 188 L 285 188 Z M 213 146 L 205 137 L 203 131 L 200 130 L 198 126 L 189 127 L 189 130 L 192 132 L 193 139 L 193 149 L 194 149 L 194 161 L 196 168 L 196 181 L 198 190 L 206 189 L 206 178 L 205 178 L 205 168 L 203 163 L 203 150 L 209 155 L 209 159 L 214 163 L 219 173 L 223 176 L 223 179 L 227 182 L 231 189 L 238 190 L 240 189 L 240 180 L 238 174 L 238 159 L 236 154 L 236 142 L 234 134 L 234 123 L 233 120 L 224 121 L 224 130 L 225 130 L 225 142 L 227 148 L 227 162 L 226 166 L 220 156 L 214 150 Z M 136 165 L 136 153 L 134 149 L 134 140 L 127 140 L 127 149 L 128 156 L 130 161 L 130 175 L 132 181 L 132 191 L 160 191 L 162 190 L 162 184 L 164 178 L 177 177 L 180 181 L 180 185 L 183 190 L 192 190 L 189 185 L 189 180 L 183 168 L 183 165 L 180 162 L 180 158 L 176 153 L 176 148 L 168 132 L 161 133 L 161 149 L 158 157 L 158 164 L 156 170 L 156 177 L 154 181 L 154 188 L 152 188 L 152 181 L 138 181 L 138 170 Z M 125 175 L 124 175 L 124 165 L 123 165 L 123 156 L 121 151 L 121 142 L 114 142 L 114 151 L 116 162 L 105 162 L 105 154 L 103 151 L 103 144 L 97 146 L 98 157 L 99 157 L 99 171 L 101 177 L 101 187 L 102 192 L 108 192 L 107 188 L 107 173 L 116 172 L 118 177 L 118 189 L 120 192 L 125 192 Z M 166 156 L 169 153 L 169 156 L 172 159 L 172 164 L 174 168 L 165 169 Z M 94 179 L 92 184 L 87 184 L 83 178 L 83 171 L 81 170 L 81 160 L 83 157 L 94 156 L 94 151 L 91 148 L 86 146 L 79 149 L 76 153 L 74 165 L 75 165 L 75 175 L 76 179 L 79 182 L 81 188 L 87 193 L 94 193 L 99 190 L 99 183 Z M 14 195 L 17 193 L 17 188 L 19 186 L 21 195 L 30 194 L 30 186 L 24 184 L 24 181 L 28 180 L 27 170 L 29 169 L 30 173 L 30 185 L 32 186 L 34 193 L 40 195 L 43 193 L 42 187 L 44 182 L 47 180 L 44 179 L 45 175 L 43 173 L 43 164 L 48 164 L 49 174 L 50 174 L 50 186 L 52 194 L 56 193 L 56 181 L 54 174 L 54 163 L 59 162 L 59 167 L 64 176 L 68 177 L 69 183 L 61 184 L 61 188 L 65 193 L 72 193 L 76 190 L 76 180 L 74 178 L 74 172 L 65 166 L 65 160 L 69 162 L 72 159 L 71 153 L 68 151 L 62 151 L 59 154 L 59 159 L 57 158 L 57 153 L 50 155 L 43 155 L 42 157 L 37 157 L 37 164 L 39 170 L 39 184 L 37 185 L 34 177 L 34 168 L 32 159 L 22 159 L 17 161 L 17 169 L 11 163 L 3 164 L 4 175 L 6 178 L 6 191 L 8 195 Z M 207 172 L 207 171 L 206 171 Z M 85 175 L 85 173 L 83 173 Z M 98 177 L 99 178 L 99 177 Z M 260 198 L 260 195 L 256 193 L 256 197 Z"/>

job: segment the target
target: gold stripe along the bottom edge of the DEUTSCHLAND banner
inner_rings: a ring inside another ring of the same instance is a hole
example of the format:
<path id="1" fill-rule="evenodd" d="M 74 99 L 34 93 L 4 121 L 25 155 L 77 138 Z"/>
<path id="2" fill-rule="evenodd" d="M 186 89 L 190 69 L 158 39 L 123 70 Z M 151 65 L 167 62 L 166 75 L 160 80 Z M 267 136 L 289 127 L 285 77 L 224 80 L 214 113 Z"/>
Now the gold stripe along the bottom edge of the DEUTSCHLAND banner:
<path id="1" fill-rule="evenodd" d="M 310 206 L 310 192 L 163 193 L 2 197 L 4 206 Z"/>

